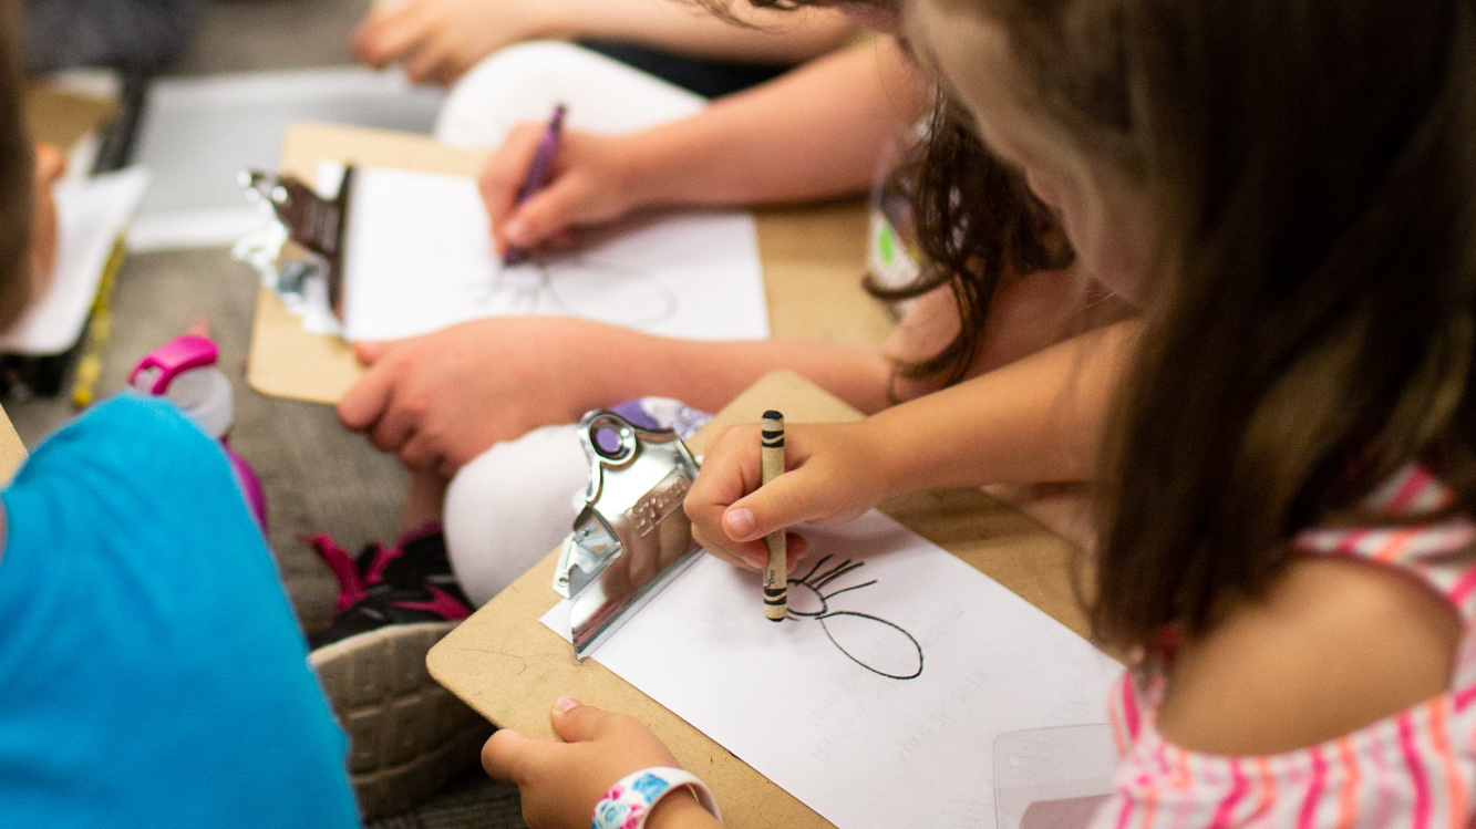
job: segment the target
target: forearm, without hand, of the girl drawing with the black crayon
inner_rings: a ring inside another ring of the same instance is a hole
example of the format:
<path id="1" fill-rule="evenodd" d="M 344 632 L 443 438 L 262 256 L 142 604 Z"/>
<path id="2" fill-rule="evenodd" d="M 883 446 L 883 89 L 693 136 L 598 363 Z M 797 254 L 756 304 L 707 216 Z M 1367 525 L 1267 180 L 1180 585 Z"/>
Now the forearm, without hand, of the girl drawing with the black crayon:
<path id="1" fill-rule="evenodd" d="M 889 494 L 1092 479 L 1137 326 L 1092 330 L 871 417 Z"/>

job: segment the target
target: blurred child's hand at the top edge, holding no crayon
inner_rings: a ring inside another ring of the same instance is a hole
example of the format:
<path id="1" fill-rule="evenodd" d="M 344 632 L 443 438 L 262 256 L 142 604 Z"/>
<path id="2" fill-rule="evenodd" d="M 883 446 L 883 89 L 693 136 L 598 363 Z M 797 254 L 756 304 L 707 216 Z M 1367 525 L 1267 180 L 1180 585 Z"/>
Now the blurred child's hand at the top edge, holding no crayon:
<path id="1" fill-rule="evenodd" d="M 558 28 L 548 0 L 399 0 L 375 6 L 354 30 L 359 62 L 401 63 L 406 77 L 449 86 L 493 52 Z"/>

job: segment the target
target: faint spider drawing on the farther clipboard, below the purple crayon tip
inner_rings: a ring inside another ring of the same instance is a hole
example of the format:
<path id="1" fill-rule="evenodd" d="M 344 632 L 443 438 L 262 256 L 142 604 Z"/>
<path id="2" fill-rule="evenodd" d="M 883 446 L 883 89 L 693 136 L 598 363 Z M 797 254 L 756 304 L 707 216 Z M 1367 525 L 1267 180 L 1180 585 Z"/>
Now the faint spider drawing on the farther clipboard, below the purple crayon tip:
<path id="1" fill-rule="evenodd" d="M 627 327 L 652 326 L 676 313 L 676 295 L 660 280 L 579 255 L 503 267 L 474 301 L 503 314 L 568 314 Z"/>

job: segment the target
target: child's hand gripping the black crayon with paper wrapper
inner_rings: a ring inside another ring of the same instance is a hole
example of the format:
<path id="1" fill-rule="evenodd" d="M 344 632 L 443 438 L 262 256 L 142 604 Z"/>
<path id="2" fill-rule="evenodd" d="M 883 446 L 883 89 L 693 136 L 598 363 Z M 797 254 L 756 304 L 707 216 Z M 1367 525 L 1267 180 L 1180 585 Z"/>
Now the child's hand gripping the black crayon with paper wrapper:
<path id="1" fill-rule="evenodd" d="M 707 438 L 703 471 L 686 494 L 692 537 L 708 553 L 763 569 L 763 537 L 803 522 L 843 524 L 889 497 L 874 429 L 859 423 L 796 423 L 785 428 L 787 472 L 759 487 L 759 425 L 731 426 Z M 788 535 L 793 571 L 807 553 Z"/>

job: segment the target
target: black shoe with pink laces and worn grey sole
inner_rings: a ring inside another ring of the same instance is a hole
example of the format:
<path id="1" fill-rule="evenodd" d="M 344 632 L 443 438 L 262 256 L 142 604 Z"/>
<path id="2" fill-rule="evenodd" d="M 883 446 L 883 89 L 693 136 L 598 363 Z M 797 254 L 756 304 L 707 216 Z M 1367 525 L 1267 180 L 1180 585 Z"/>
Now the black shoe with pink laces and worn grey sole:
<path id="1" fill-rule="evenodd" d="M 331 555 L 339 553 L 348 559 L 341 549 Z M 325 561 L 335 574 L 348 569 Z M 475 763 L 492 726 L 425 670 L 431 646 L 471 615 L 440 528 L 348 561 L 354 584 L 339 575 L 342 594 L 356 586 L 362 597 L 308 634 L 308 664 L 348 733 L 348 770 L 368 820 L 404 811 Z"/>

